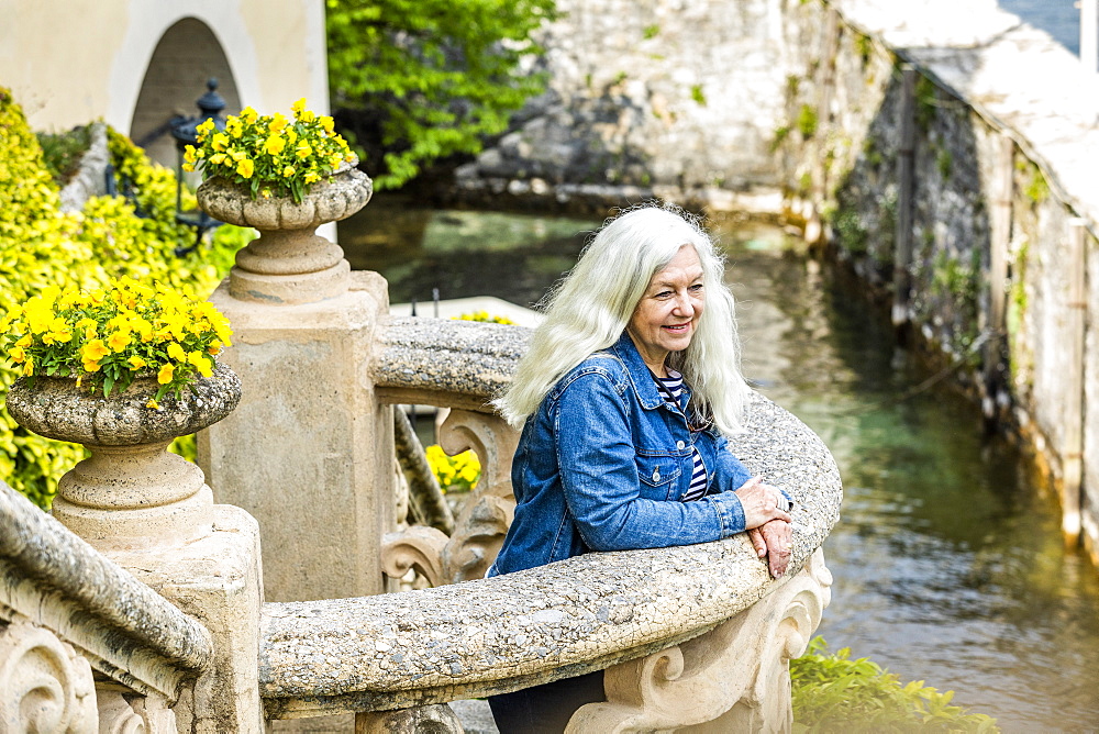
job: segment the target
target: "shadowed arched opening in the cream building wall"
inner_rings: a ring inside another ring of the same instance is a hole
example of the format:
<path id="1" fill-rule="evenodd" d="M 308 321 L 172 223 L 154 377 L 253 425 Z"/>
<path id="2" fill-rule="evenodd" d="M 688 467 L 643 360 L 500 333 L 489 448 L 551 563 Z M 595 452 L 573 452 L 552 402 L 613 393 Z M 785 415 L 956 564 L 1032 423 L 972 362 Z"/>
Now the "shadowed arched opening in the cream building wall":
<path id="1" fill-rule="evenodd" d="M 211 77 L 218 79 L 218 92 L 225 100 L 224 114 L 240 112 L 236 81 L 213 31 L 196 18 L 174 23 L 160 36 L 145 69 L 130 137 L 151 158 L 174 167 L 175 141 L 167 123 L 177 114 L 198 114 L 195 101 L 206 92 Z"/>

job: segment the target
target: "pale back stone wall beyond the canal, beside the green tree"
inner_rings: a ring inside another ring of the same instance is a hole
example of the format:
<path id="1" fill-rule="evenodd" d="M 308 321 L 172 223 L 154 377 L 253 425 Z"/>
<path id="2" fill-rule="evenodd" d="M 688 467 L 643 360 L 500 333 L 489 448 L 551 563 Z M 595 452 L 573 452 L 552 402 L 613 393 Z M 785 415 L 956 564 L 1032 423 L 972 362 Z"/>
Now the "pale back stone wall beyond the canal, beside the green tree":
<path id="1" fill-rule="evenodd" d="M 784 48 L 774 0 L 558 0 L 550 89 L 458 171 L 466 198 L 776 208 Z"/>

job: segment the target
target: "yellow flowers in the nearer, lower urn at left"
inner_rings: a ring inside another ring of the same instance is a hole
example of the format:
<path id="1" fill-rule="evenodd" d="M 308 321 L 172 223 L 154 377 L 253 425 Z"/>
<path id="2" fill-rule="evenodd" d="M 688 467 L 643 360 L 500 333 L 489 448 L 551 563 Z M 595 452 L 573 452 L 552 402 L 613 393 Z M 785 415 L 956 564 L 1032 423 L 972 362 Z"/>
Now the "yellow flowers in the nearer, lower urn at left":
<path id="1" fill-rule="evenodd" d="M 76 377 L 110 397 L 138 375 L 155 375 L 149 400 L 179 392 L 198 375 L 210 377 L 214 355 L 231 344 L 225 318 L 157 282 L 123 276 L 109 288 L 62 290 L 49 286 L 0 319 L 0 345 L 26 377 Z"/>

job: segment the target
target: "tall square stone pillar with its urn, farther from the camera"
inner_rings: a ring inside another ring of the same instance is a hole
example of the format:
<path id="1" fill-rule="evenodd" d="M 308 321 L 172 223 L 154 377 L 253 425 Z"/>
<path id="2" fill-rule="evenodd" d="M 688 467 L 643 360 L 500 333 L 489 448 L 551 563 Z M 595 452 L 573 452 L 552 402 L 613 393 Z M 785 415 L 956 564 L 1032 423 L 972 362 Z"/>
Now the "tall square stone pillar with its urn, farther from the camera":
<path id="1" fill-rule="evenodd" d="M 313 234 L 363 207 L 370 181 L 352 169 L 299 204 L 252 202 L 214 181 L 199 189 L 203 209 L 260 237 L 211 298 L 234 331 L 221 358 L 243 396 L 233 415 L 199 434 L 199 461 L 219 501 L 259 521 L 269 600 L 386 591 L 392 412 L 376 399 L 368 365 L 387 286 L 349 273 L 343 251 Z"/>

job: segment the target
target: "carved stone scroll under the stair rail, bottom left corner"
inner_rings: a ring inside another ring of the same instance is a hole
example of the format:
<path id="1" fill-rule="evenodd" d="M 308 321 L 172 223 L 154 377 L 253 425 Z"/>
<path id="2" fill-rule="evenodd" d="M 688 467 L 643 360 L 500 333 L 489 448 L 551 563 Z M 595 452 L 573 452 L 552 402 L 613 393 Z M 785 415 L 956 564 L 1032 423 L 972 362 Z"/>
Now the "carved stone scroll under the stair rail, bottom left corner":
<path id="1" fill-rule="evenodd" d="M 91 666 L 53 632 L 29 621 L 0 630 L 0 731 L 96 734 Z"/>

